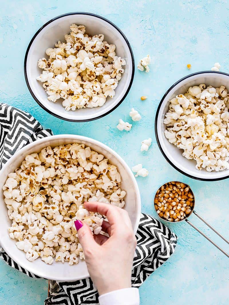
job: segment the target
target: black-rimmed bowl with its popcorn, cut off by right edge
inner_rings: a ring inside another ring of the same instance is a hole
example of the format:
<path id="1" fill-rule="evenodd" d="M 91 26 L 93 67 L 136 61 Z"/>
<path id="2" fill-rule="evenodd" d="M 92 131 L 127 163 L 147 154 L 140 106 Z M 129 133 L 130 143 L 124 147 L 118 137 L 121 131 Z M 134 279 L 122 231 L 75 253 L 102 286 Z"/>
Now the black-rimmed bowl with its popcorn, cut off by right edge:
<path id="1" fill-rule="evenodd" d="M 229 75 L 204 71 L 177 81 L 159 103 L 155 134 L 165 159 L 188 177 L 229 177 Z"/>

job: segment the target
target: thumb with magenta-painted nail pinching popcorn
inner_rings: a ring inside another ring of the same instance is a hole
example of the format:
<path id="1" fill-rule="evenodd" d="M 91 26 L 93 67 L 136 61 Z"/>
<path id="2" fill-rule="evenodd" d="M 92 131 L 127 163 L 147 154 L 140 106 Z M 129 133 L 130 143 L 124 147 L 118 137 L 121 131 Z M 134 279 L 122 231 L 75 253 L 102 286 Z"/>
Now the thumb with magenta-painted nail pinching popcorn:
<path id="1" fill-rule="evenodd" d="M 74 223 L 78 233 L 78 239 L 83 250 L 85 251 L 89 247 L 94 247 L 94 245 L 96 245 L 96 242 L 93 238 L 92 231 L 89 228 L 89 225 L 80 220 L 76 220 Z"/>

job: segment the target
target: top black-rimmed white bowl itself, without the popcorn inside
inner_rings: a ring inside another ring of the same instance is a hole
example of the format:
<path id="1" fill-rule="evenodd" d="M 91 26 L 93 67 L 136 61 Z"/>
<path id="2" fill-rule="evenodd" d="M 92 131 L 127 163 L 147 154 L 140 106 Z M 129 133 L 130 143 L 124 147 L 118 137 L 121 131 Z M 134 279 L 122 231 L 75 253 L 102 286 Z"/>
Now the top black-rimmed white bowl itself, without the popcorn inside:
<path id="1" fill-rule="evenodd" d="M 116 45 L 116 55 L 125 59 L 124 73 L 115 89 L 113 99 L 107 98 L 105 104 L 96 108 L 83 108 L 66 111 L 62 106 L 63 99 L 55 103 L 47 99 L 42 83 L 36 77 L 42 73 L 38 68 L 38 59 L 45 57 L 45 50 L 53 48 L 55 43 L 64 40 L 64 35 L 70 33 L 70 25 L 85 25 L 86 32 L 91 35 L 104 34 L 104 40 Z M 122 31 L 109 20 L 90 13 L 68 13 L 45 23 L 31 39 L 24 60 L 24 74 L 28 89 L 35 101 L 48 113 L 63 120 L 83 122 L 95 120 L 111 113 L 125 99 L 133 82 L 134 57 L 130 44 Z"/>

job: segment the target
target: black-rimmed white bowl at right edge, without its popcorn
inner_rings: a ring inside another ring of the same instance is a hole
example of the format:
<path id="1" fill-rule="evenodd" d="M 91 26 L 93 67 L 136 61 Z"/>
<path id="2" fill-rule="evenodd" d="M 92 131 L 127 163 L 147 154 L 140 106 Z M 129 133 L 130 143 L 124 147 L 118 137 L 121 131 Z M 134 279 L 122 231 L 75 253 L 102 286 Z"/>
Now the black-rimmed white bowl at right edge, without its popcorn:
<path id="1" fill-rule="evenodd" d="M 165 159 L 182 174 L 204 181 L 216 181 L 226 179 L 229 177 L 229 170 L 208 172 L 206 169 L 197 170 L 195 168 L 195 160 L 187 160 L 182 156 L 183 149 L 178 149 L 175 145 L 169 143 L 165 138 L 165 124 L 163 120 L 165 113 L 169 109 L 169 101 L 178 94 L 184 94 L 190 86 L 198 86 L 199 84 L 206 84 L 206 86 L 219 87 L 224 85 L 229 89 L 229 75 L 222 72 L 203 71 L 190 74 L 179 81 L 177 81 L 163 96 L 159 103 L 156 118 L 155 118 L 155 134 L 158 146 L 165 157 Z"/>

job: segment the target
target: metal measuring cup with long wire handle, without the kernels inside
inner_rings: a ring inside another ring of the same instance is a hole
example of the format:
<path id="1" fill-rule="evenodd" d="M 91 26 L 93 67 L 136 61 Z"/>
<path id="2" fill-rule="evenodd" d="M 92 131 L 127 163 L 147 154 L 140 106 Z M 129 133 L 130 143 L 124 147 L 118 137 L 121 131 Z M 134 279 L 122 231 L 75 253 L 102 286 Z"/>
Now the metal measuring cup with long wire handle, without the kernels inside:
<path id="1" fill-rule="evenodd" d="M 175 183 L 181 183 L 180 181 L 172 181 L 172 182 L 175 182 Z M 167 182 L 167 184 L 171 184 L 171 182 Z M 183 182 L 182 182 L 183 183 Z M 163 184 L 165 185 L 166 182 Z M 183 183 L 185 184 L 185 183 Z M 162 186 L 163 186 L 162 185 Z M 189 185 L 185 184 L 188 188 L 189 188 L 189 191 L 191 192 L 192 196 L 193 196 L 193 201 L 192 201 L 192 205 L 189 206 L 189 208 L 191 209 L 191 212 L 186 215 L 183 219 L 179 219 L 179 221 L 175 221 L 175 223 L 177 222 L 181 222 L 181 221 L 186 221 L 188 224 L 190 224 L 196 231 L 198 231 L 200 234 L 202 234 L 207 240 L 209 240 L 209 242 L 211 242 L 214 246 L 216 246 L 216 248 L 218 248 L 221 252 L 223 252 L 227 257 L 229 257 L 229 254 L 227 252 L 225 252 L 222 248 L 220 248 L 220 246 L 218 246 L 215 242 L 213 242 L 212 239 L 210 239 L 207 235 L 205 235 L 202 231 L 200 231 L 194 224 L 192 224 L 187 218 L 192 214 L 194 213 L 200 220 L 202 220 L 210 229 L 212 229 L 217 235 L 219 235 L 225 242 L 227 242 L 229 244 L 229 241 L 223 236 L 221 235 L 218 231 L 216 231 L 216 229 L 214 229 L 207 221 L 205 221 L 205 219 L 203 219 L 203 217 L 201 217 L 195 210 L 194 210 L 194 206 L 195 206 L 195 198 L 194 198 L 194 194 L 190 188 Z M 161 190 L 162 186 L 158 189 L 158 190 Z M 157 191 L 158 192 L 158 191 Z M 156 193 L 157 194 L 157 193 Z M 156 196 L 155 194 L 155 196 Z M 155 197 L 154 196 L 154 200 L 155 200 Z M 154 205 L 154 209 L 155 211 L 157 212 L 156 208 L 155 208 L 155 205 Z M 158 214 L 158 213 L 157 213 Z M 170 223 L 173 223 L 174 221 L 170 221 L 168 219 L 165 219 L 164 217 L 161 217 L 159 216 L 158 214 L 158 217 L 161 218 L 162 220 L 164 221 L 167 221 L 167 222 L 170 222 Z"/>

